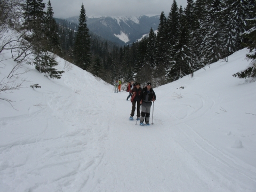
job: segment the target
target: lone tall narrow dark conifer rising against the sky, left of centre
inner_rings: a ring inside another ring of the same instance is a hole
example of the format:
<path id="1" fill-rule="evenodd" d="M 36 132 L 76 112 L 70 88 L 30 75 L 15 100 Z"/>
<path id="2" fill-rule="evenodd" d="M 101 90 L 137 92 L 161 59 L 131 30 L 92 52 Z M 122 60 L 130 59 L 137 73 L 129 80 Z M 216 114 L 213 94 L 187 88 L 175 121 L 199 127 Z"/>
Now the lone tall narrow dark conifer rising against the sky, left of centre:
<path id="1" fill-rule="evenodd" d="M 86 24 L 87 18 L 85 14 L 84 5 L 81 6 L 79 15 L 79 26 L 77 29 L 75 44 L 74 44 L 74 58 L 75 64 L 87 70 L 91 64 L 91 53 L 90 53 L 90 35 L 89 29 Z"/>

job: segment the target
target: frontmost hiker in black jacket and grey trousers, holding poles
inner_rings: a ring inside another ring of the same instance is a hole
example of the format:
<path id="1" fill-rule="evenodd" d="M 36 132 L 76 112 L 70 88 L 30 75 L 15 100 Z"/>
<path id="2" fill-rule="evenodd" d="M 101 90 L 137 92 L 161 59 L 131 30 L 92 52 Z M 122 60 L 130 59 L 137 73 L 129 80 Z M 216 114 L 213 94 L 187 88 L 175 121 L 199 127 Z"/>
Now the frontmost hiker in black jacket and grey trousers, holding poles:
<path id="1" fill-rule="evenodd" d="M 150 108 L 152 105 L 152 101 L 156 100 L 156 94 L 151 87 L 151 83 L 147 83 L 147 86 L 142 89 L 140 93 L 140 104 L 141 104 L 141 117 L 140 117 L 140 125 L 150 125 L 149 124 L 149 116 L 150 116 Z M 146 118 L 145 118 L 146 117 Z"/>

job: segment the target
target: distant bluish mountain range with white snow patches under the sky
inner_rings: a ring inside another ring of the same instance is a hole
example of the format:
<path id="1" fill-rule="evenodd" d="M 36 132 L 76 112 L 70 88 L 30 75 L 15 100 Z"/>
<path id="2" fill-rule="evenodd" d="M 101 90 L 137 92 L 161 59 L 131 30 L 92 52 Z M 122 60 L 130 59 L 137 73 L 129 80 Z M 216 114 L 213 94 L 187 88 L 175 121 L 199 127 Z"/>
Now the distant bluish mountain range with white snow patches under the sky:
<path id="1" fill-rule="evenodd" d="M 129 17 L 87 17 L 89 30 L 104 39 L 120 45 L 130 44 L 143 35 L 148 34 L 150 28 L 157 30 L 159 15 L 149 17 L 146 15 Z M 66 20 L 79 23 L 79 17 L 66 18 Z"/>

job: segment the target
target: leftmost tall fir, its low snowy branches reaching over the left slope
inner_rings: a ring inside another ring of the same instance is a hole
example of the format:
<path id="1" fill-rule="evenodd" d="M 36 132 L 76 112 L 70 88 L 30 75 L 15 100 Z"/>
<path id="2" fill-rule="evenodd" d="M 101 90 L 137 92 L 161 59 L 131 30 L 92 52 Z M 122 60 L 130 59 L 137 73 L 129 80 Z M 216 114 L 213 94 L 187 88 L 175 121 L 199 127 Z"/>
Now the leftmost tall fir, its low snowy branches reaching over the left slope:
<path id="1" fill-rule="evenodd" d="M 52 53 L 47 51 L 48 41 L 45 38 L 45 4 L 43 0 L 27 0 L 24 6 L 24 28 L 32 31 L 31 36 L 27 36 L 32 45 L 34 54 L 34 65 L 40 73 L 49 75 L 50 78 L 60 78 L 64 71 L 57 71 L 53 68 L 58 65 Z"/>

